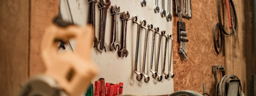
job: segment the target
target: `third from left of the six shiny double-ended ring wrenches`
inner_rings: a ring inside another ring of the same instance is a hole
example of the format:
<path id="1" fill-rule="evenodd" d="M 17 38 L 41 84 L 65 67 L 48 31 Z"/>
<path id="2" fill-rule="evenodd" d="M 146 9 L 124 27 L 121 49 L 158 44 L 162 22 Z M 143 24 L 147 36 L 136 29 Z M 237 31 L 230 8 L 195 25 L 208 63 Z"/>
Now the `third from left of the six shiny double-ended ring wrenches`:
<path id="1" fill-rule="evenodd" d="M 159 27 L 156 27 L 159 30 Z M 152 70 L 153 66 L 153 56 L 154 56 L 154 45 L 155 45 L 155 30 L 153 29 L 153 24 L 148 24 L 148 29 L 152 31 L 153 36 L 152 36 L 152 49 L 151 49 L 151 59 L 150 59 L 150 72 L 153 74 L 152 77 L 156 78 L 157 73 Z"/>

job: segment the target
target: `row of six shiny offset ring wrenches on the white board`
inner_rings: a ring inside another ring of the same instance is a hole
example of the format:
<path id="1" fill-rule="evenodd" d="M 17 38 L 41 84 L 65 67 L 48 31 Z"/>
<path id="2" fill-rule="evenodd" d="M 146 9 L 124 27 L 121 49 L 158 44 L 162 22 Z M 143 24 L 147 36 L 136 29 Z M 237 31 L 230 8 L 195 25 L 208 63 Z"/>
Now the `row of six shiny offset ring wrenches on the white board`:
<path id="1" fill-rule="evenodd" d="M 136 74 L 136 79 L 137 81 L 141 81 L 144 77 L 144 82 L 148 83 L 150 80 L 150 77 L 145 73 L 145 65 L 146 65 L 146 54 L 147 54 L 147 41 L 148 41 L 148 33 L 150 31 L 153 32 L 153 37 L 152 37 L 152 49 L 151 49 L 151 61 L 150 61 L 150 72 L 152 73 L 152 78 L 157 79 L 157 81 L 161 82 L 163 79 L 163 76 L 158 73 L 158 65 L 159 65 L 159 58 L 160 58 L 160 49 L 161 49 L 161 41 L 162 41 L 162 36 L 165 37 L 165 50 L 164 50 L 164 63 L 163 63 L 163 70 L 162 73 L 165 74 L 165 79 L 169 79 L 170 75 L 171 78 L 174 77 L 174 74 L 171 72 L 171 62 L 169 66 L 169 71 L 168 73 L 165 72 L 165 60 L 166 60 L 166 49 L 167 49 L 167 44 L 169 42 L 169 39 L 171 40 L 171 46 L 173 45 L 173 38 L 171 34 L 166 35 L 166 31 L 161 31 L 159 32 L 159 27 L 155 27 L 153 29 L 153 24 L 148 24 L 147 26 L 147 21 L 142 19 L 138 22 L 138 16 L 133 16 L 132 17 L 133 23 L 137 24 L 137 39 L 136 39 L 136 51 L 135 51 L 135 62 L 134 62 L 134 73 Z M 143 49 L 143 62 L 142 62 L 142 71 L 139 72 L 137 70 L 138 66 L 138 54 L 139 54 L 139 41 L 140 41 L 140 28 L 145 29 L 145 42 L 144 42 L 144 49 Z M 155 34 L 158 34 L 159 39 L 158 39 L 158 49 L 157 49 L 157 60 L 156 60 L 156 66 L 155 70 L 152 69 L 153 66 L 153 57 L 154 57 L 154 45 L 155 45 Z M 171 56 L 170 60 L 172 60 L 172 47 L 171 47 Z"/>

